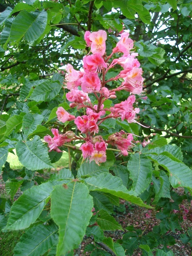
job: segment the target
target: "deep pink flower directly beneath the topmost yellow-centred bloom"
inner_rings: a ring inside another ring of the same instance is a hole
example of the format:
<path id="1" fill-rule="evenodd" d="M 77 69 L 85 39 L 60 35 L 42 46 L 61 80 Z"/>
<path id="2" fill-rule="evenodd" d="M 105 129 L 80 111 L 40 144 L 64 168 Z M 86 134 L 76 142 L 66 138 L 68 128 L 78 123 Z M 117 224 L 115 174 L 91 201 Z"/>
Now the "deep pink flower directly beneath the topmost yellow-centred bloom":
<path id="1" fill-rule="evenodd" d="M 93 66 L 94 71 L 101 72 L 102 68 L 107 68 L 107 64 L 104 62 L 100 52 L 87 56 L 85 62 L 88 66 Z"/>

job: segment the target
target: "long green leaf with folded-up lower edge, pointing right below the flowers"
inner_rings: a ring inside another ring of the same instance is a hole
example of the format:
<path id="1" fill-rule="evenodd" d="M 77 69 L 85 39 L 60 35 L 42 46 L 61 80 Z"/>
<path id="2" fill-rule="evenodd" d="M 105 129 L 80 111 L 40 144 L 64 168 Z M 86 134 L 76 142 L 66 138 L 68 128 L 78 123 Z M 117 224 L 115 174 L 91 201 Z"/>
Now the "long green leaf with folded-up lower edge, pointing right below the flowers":
<path id="1" fill-rule="evenodd" d="M 142 202 L 142 200 L 132 194 L 122 184 L 122 180 L 118 177 L 112 176 L 109 173 L 99 174 L 97 177 L 90 177 L 85 179 L 86 185 L 90 191 L 101 191 L 118 196 L 122 199 L 128 200 L 139 206 L 152 208 Z"/>

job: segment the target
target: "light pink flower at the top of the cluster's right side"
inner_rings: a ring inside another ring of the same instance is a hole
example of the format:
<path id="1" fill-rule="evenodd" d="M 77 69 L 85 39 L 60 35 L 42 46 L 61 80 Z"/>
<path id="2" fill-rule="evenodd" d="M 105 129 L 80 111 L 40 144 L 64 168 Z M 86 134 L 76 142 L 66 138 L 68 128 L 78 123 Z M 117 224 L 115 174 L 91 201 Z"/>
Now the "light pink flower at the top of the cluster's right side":
<path id="1" fill-rule="evenodd" d="M 116 47 L 113 49 L 113 52 L 123 52 L 124 54 L 129 54 L 130 50 L 133 48 L 133 40 L 128 38 L 129 33 L 123 32 L 121 34 L 121 39 L 117 43 Z"/>

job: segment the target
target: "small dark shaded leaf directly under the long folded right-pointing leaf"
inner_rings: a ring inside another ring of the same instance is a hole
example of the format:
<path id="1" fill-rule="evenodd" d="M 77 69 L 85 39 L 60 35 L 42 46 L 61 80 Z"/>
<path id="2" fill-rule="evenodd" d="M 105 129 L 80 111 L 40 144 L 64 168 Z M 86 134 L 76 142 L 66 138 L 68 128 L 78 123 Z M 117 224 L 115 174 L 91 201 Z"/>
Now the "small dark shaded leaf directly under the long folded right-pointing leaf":
<path id="1" fill-rule="evenodd" d="M 98 208 L 98 210 L 103 209 L 109 214 L 113 213 L 113 205 L 106 195 L 96 191 L 90 192 L 90 195 L 93 196 L 93 203 L 95 208 Z"/>

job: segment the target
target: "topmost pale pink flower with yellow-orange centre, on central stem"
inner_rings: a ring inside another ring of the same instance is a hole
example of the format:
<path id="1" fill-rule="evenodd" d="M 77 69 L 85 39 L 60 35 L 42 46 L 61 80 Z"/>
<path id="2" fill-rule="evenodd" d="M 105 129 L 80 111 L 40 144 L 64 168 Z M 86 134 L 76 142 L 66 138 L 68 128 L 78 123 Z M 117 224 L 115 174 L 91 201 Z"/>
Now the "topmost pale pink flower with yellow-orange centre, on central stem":
<path id="1" fill-rule="evenodd" d="M 100 52 L 103 56 L 105 53 L 107 40 L 107 33 L 104 30 L 99 30 L 98 32 L 92 32 L 89 35 L 89 40 L 91 40 L 91 51 L 93 54 Z"/>

